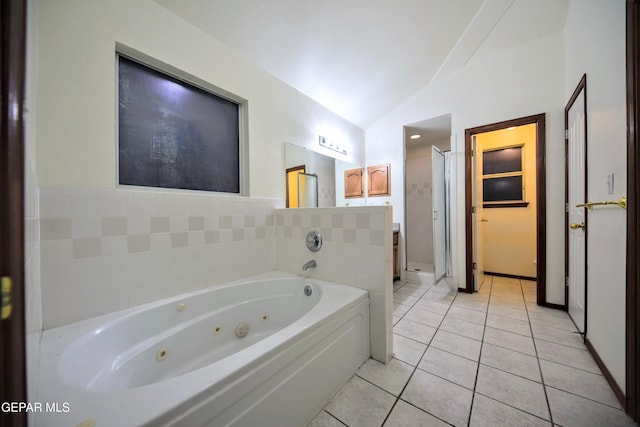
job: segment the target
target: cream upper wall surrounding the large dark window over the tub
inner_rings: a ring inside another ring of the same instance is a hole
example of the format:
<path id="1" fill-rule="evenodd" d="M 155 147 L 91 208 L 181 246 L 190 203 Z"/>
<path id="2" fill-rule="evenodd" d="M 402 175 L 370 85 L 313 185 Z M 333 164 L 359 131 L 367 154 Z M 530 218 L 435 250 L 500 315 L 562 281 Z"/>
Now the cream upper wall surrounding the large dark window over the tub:
<path id="1" fill-rule="evenodd" d="M 34 1 L 40 185 L 115 186 L 116 42 L 249 101 L 252 196 L 284 198 L 283 141 L 316 149 L 322 132 L 344 141 L 344 160 L 364 158 L 360 128 L 152 0 Z"/>

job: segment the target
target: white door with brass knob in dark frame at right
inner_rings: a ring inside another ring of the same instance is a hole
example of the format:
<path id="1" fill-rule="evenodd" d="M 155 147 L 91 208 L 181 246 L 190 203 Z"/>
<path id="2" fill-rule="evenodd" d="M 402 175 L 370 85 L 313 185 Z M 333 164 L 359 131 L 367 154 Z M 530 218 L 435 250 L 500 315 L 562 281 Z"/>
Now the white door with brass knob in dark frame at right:
<path id="1" fill-rule="evenodd" d="M 567 285 L 569 287 L 569 315 L 581 333 L 585 332 L 586 307 L 586 242 L 587 242 L 587 213 L 583 207 L 576 207 L 584 203 L 585 194 L 585 160 L 586 160 L 586 129 L 585 129 L 585 96 L 580 92 L 568 111 L 567 122 L 567 156 L 568 156 L 568 239 L 567 250 Z"/>

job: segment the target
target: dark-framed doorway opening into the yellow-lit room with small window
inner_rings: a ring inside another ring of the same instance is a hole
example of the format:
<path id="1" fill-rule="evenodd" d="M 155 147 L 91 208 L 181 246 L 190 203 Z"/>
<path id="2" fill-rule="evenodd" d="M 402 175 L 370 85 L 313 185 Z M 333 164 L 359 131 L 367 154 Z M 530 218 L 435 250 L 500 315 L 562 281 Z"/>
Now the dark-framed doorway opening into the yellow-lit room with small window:
<path id="1" fill-rule="evenodd" d="M 465 131 L 466 283 L 461 291 L 477 291 L 485 273 L 535 279 L 537 303 L 547 305 L 544 158 L 544 114 Z M 499 236 L 506 240 L 495 246 Z M 524 236 L 529 243 L 523 243 Z M 500 252 L 507 247 L 505 263 Z M 496 248 L 485 265 L 486 249 Z"/>

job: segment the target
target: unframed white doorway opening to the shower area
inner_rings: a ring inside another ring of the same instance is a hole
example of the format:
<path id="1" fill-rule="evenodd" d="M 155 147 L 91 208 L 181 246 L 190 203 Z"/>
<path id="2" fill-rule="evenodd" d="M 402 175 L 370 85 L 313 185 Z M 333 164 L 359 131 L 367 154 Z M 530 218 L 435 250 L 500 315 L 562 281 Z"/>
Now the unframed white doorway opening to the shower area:
<path id="1" fill-rule="evenodd" d="M 404 127 L 405 270 L 413 283 L 437 283 L 451 276 L 451 116 Z"/>

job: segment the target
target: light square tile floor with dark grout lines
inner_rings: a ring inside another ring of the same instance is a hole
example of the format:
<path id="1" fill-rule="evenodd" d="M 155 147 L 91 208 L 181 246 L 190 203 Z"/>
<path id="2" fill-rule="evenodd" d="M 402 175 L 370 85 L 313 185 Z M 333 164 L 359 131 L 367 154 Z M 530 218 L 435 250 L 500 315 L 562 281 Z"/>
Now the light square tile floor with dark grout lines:
<path id="1" fill-rule="evenodd" d="M 535 282 L 394 283 L 394 358 L 366 361 L 310 427 L 628 426 L 567 313 Z"/>

